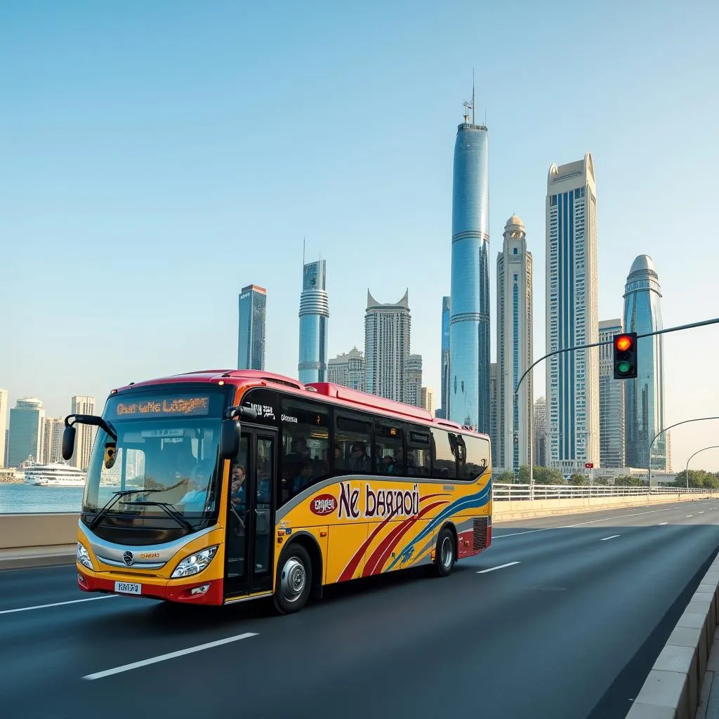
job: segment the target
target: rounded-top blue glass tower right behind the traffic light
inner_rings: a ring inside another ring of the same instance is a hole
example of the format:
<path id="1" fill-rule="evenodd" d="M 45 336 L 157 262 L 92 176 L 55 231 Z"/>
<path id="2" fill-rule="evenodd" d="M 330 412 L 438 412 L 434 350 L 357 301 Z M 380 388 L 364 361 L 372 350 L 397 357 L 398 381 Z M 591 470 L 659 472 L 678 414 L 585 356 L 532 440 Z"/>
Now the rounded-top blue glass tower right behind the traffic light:
<path id="1" fill-rule="evenodd" d="M 649 255 L 634 260 L 624 289 L 624 326 L 644 334 L 662 329 L 659 275 Z M 637 340 L 637 376 L 625 383 L 625 439 L 627 467 L 649 467 L 649 443 L 664 427 L 663 335 Z M 667 438 L 661 434 L 651 447 L 651 468 L 667 467 Z"/>

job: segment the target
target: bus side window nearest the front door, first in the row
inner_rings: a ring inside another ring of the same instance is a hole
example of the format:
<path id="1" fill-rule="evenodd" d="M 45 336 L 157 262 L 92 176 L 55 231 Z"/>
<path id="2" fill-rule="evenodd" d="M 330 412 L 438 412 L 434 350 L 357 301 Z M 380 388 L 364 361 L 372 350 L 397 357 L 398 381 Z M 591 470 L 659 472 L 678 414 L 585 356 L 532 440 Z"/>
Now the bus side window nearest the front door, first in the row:
<path id="1" fill-rule="evenodd" d="M 331 471 L 329 413 L 319 403 L 282 400 L 281 501 L 327 477 Z"/>

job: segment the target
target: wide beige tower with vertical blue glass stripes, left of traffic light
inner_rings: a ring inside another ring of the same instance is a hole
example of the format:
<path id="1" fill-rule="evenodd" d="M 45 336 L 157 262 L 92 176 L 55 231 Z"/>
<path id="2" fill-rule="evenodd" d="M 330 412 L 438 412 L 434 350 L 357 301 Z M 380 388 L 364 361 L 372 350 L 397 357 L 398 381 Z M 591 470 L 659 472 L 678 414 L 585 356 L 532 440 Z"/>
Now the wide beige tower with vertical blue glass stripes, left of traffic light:
<path id="1" fill-rule="evenodd" d="M 546 352 L 594 344 L 597 189 L 592 155 L 551 165 L 546 191 Z M 599 353 L 562 352 L 546 361 L 549 467 L 584 472 L 599 464 Z"/>

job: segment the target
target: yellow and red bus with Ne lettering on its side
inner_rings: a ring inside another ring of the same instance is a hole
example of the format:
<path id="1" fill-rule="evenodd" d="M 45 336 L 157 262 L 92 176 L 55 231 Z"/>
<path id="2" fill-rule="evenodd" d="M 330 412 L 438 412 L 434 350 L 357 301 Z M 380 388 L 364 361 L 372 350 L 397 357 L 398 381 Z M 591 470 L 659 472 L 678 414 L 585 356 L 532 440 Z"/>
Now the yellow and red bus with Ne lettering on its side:
<path id="1" fill-rule="evenodd" d="M 422 408 L 206 370 L 68 415 L 65 459 L 78 425 L 98 428 L 78 521 L 84 592 L 272 597 L 291 613 L 336 582 L 421 565 L 446 577 L 490 546 L 490 439 Z"/>

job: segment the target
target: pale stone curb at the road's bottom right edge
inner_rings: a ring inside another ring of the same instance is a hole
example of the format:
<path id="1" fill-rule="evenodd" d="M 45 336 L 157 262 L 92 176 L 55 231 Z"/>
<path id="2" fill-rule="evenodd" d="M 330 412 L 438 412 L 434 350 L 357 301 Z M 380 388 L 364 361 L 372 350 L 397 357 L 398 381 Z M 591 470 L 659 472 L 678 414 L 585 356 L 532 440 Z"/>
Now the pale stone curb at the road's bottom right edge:
<path id="1" fill-rule="evenodd" d="M 694 719 L 718 620 L 719 555 L 651 668 L 626 719 Z"/>

